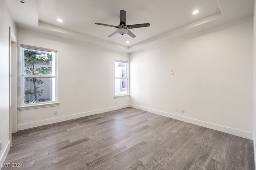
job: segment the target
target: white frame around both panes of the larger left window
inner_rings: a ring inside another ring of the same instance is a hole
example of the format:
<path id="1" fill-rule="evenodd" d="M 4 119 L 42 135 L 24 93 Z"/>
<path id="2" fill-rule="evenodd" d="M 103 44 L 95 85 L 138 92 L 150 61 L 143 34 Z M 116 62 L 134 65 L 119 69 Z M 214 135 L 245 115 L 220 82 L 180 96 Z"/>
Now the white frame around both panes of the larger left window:
<path id="1" fill-rule="evenodd" d="M 55 68 L 55 75 L 26 75 L 24 74 L 24 48 L 26 49 L 34 49 L 34 50 L 42 50 L 42 51 L 47 51 L 47 52 L 53 52 L 56 53 L 55 55 L 55 61 L 54 65 L 52 65 L 52 68 Z M 20 104 L 19 104 L 19 110 L 26 110 L 26 109 L 35 109 L 35 108 L 42 108 L 42 107 L 52 107 L 52 106 L 58 106 L 58 93 L 57 93 L 57 82 L 58 82 L 58 51 L 54 49 L 47 49 L 47 48 L 42 48 L 42 47 L 35 47 L 35 46 L 30 46 L 30 45 L 24 45 L 20 44 Z M 40 103 L 32 103 L 32 104 L 24 104 L 24 78 L 25 77 L 40 77 L 40 78 L 55 78 L 54 82 L 54 92 L 52 92 L 54 95 L 55 100 L 54 101 L 49 101 L 49 102 L 40 102 Z"/>

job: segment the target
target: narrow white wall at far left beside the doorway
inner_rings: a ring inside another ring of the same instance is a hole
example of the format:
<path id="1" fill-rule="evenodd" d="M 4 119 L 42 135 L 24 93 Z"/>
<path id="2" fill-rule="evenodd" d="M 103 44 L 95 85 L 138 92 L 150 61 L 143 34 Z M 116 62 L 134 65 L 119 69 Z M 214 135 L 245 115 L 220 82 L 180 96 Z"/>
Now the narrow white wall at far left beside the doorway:
<path id="1" fill-rule="evenodd" d="M 9 26 L 16 34 L 14 24 L 6 5 L 6 1 L 0 1 L 0 141 L 3 148 L 0 150 L 0 164 L 10 149 L 9 139 Z M 0 167 L 1 168 L 1 167 Z"/>

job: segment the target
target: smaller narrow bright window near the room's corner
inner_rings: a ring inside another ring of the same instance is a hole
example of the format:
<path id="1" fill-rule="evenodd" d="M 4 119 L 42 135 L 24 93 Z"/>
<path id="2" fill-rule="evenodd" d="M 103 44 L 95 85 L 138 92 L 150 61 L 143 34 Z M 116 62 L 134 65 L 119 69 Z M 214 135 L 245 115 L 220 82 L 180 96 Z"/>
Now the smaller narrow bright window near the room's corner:
<path id="1" fill-rule="evenodd" d="M 115 96 L 128 95 L 128 62 L 115 60 Z"/>

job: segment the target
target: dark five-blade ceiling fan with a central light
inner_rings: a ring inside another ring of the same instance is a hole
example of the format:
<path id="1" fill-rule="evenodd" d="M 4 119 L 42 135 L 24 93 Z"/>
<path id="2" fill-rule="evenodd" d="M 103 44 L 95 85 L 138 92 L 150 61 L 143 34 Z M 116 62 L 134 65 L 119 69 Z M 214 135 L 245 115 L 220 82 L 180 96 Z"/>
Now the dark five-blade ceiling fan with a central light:
<path id="1" fill-rule="evenodd" d="M 104 24 L 104 23 L 97 23 L 97 22 L 95 24 L 118 28 L 112 34 L 108 35 L 108 37 L 111 37 L 111 36 L 115 35 L 116 33 L 120 33 L 121 35 L 124 35 L 124 34 L 127 33 L 132 38 L 136 37 L 136 35 L 134 35 L 129 29 L 140 28 L 140 27 L 148 27 L 150 25 L 149 23 L 140 23 L 140 24 L 134 24 L 134 25 L 126 25 L 125 22 L 126 22 L 126 11 L 121 10 L 120 11 L 120 23 L 119 23 L 118 26 L 108 25 L 108 24 Z"/>

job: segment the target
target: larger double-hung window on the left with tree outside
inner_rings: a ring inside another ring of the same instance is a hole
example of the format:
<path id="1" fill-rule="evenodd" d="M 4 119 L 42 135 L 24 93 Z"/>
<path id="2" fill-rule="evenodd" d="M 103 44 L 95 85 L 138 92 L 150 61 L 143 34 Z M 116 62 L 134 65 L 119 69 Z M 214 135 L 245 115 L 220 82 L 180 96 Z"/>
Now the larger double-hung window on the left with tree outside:
<path id="1" fill-rule="evenodd" d="M 21 45 L 21 106 L 56 102 L 57 51 Z"/>

